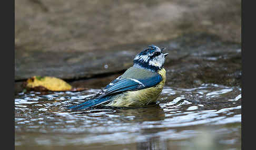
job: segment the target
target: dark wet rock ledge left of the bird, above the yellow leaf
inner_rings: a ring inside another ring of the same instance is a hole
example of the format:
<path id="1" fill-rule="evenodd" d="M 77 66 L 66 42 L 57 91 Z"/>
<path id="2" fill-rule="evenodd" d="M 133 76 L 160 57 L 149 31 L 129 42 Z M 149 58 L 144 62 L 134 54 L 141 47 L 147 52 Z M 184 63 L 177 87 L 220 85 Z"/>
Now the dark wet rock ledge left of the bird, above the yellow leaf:
<path id="1" fill-rule="evenodd" d="M 135 48 L 135 50 L 139 49 Z M 39 75 L 67 80 L 116 73 L 129 68 L 135 55 L 134 50 L 120 50 L 119 48 L 90 52 L 16 50 L 15 80 L 24 80 Z"/>

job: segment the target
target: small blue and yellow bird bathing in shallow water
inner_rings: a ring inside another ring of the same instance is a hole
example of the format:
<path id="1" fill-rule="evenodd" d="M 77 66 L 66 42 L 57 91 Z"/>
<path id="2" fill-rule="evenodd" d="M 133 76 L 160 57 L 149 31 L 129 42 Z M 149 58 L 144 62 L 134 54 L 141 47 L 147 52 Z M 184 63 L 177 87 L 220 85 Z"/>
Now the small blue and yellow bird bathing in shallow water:
<path id="1" fill-rule="evenodd" d="M 121 76 L 90 100 L 69 106 L 68 109 L 88 109 L 101 104 L 129 108 L 155 103 L 166 80 L 164 61 L 168 53 L 164 53 L 165 49 L 155 45 L 143 49 L 135 56 L 133 66 Z"/>

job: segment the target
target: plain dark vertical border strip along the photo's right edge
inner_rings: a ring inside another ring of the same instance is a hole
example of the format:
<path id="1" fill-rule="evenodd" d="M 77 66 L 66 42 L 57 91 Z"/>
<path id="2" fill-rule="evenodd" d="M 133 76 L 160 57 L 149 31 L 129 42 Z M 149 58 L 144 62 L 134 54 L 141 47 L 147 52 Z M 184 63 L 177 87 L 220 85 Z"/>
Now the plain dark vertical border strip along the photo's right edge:
<path id="1" fill-rule="evenodd" d="M 247 3 L 245 3 L 247 2 Z M 253 27 L 255 28 L 255 23 L 254 23 L 254 16 L 255 16 L 255 11 L 253 12 L 252 10 L 254 10 L 255 5 L 253 5 L 253 3 L 251 3 L 251 5 L 248 2 L 253 2 L 253 1 L 242 1 L 241 0 L 241 55 L 242 55 L 242 85 L 241 85 L 241 94 L 242 94 L 242 121 L 241 121 L 241 148 L 242 149 L 251 149 L 251 147 L 253 147 L 253 144 L 255 143 L 253 135 L 249 136 L 249 134 L 246 134 L 247 131 L 250 131 L 250 133 L 254 133 L 253 132 L 253 127 L 247 126 L 245 127 L 245 120 L 246 117 L 249 115 L 251 120 L 251 124 L 247 124 L 247 125 L 253 125 L 254 126 L 254 118 L 255 118 L 255 108 L 248 108 L 248 105 L 250 103 L 251 107 L 255 107 L 255 104 L 253 104 L 254 100 L 254 95 L 253 93 L 255 93 L 254 88 L 252 86 L 252 88 L 249 88 L 248 86 L 248 82 L 253 83 L 253 78 L 255 78 L 255 63 L 251 60 L 255 59 L 252 58 L 254 57 L 253 53 L 252 55 L 248 55 L 248 52 L 251 51 L 255 51 L 255 34 L 253 35 Z M 247 24 L 246 23 L 247 20 Z M 248 33 L 250 33 L 251 35 L 249 35 Z M 250 57 L 250 58 L 249 58 Z M 247 71 L 248 70 L 248 71 Z M 249 72 L 249 73 L 246 73 Z M 245 77 L 246 74 L 246 77 Z M 246 96 L 245 96 L 245 92 L 247 92 Z M 250 93 L 252 93 L 250 95 Z M 249 95 L 248 95 L 249 94 Z M 245 97 L 247 97 L 247 99 L 245 99 Z M 246 106 L 247 105 L 247 106 Z M 246 114 L 246 112 L 250 111 L 249 114 Z M 248 118 L 248 117 L 247 117 Z M 255 131 L 255 130 L 254 130 Z M 247 135 L 247 136 L 246 136 Z M 249 138 L 246 138 L 249 137 Z M 248 147 L 248 148 L 245 148 Z"/>

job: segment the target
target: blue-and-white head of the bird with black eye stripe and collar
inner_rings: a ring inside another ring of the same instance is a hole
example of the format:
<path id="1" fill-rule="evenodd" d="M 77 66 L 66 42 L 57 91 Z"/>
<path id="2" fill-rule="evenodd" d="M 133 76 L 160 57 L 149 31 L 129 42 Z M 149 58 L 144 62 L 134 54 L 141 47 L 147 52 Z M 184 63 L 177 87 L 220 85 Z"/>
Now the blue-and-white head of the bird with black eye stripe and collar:
<path id="1" fill-rule="evenodd" d="M 137 54 L 133 60 L 134 65 L 157 71 L 163 68 L 165 57 L 168 53 L 163 53 L 165 48 L 151 45 Z"/>

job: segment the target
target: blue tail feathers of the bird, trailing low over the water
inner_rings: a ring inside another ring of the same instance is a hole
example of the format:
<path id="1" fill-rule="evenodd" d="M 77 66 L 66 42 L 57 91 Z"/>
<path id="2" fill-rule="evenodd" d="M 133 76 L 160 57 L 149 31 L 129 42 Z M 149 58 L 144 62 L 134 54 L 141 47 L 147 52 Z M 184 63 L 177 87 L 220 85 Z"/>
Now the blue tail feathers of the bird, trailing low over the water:
<path id="1" fill-rule="evenodd" d="M 72 109 L 72 110 L 86 109 L 86 108 L 90 108 L 92 106 L 100 105 L 109 100 L 110 100 L 110 97 L 101 97 L 101 98 L 97 98 L 97 99 L 88 100 L 88 101 L 78 104 L 78 105 L 72 105 L 72 106 L 68 107 L 68 109 Z"/>

